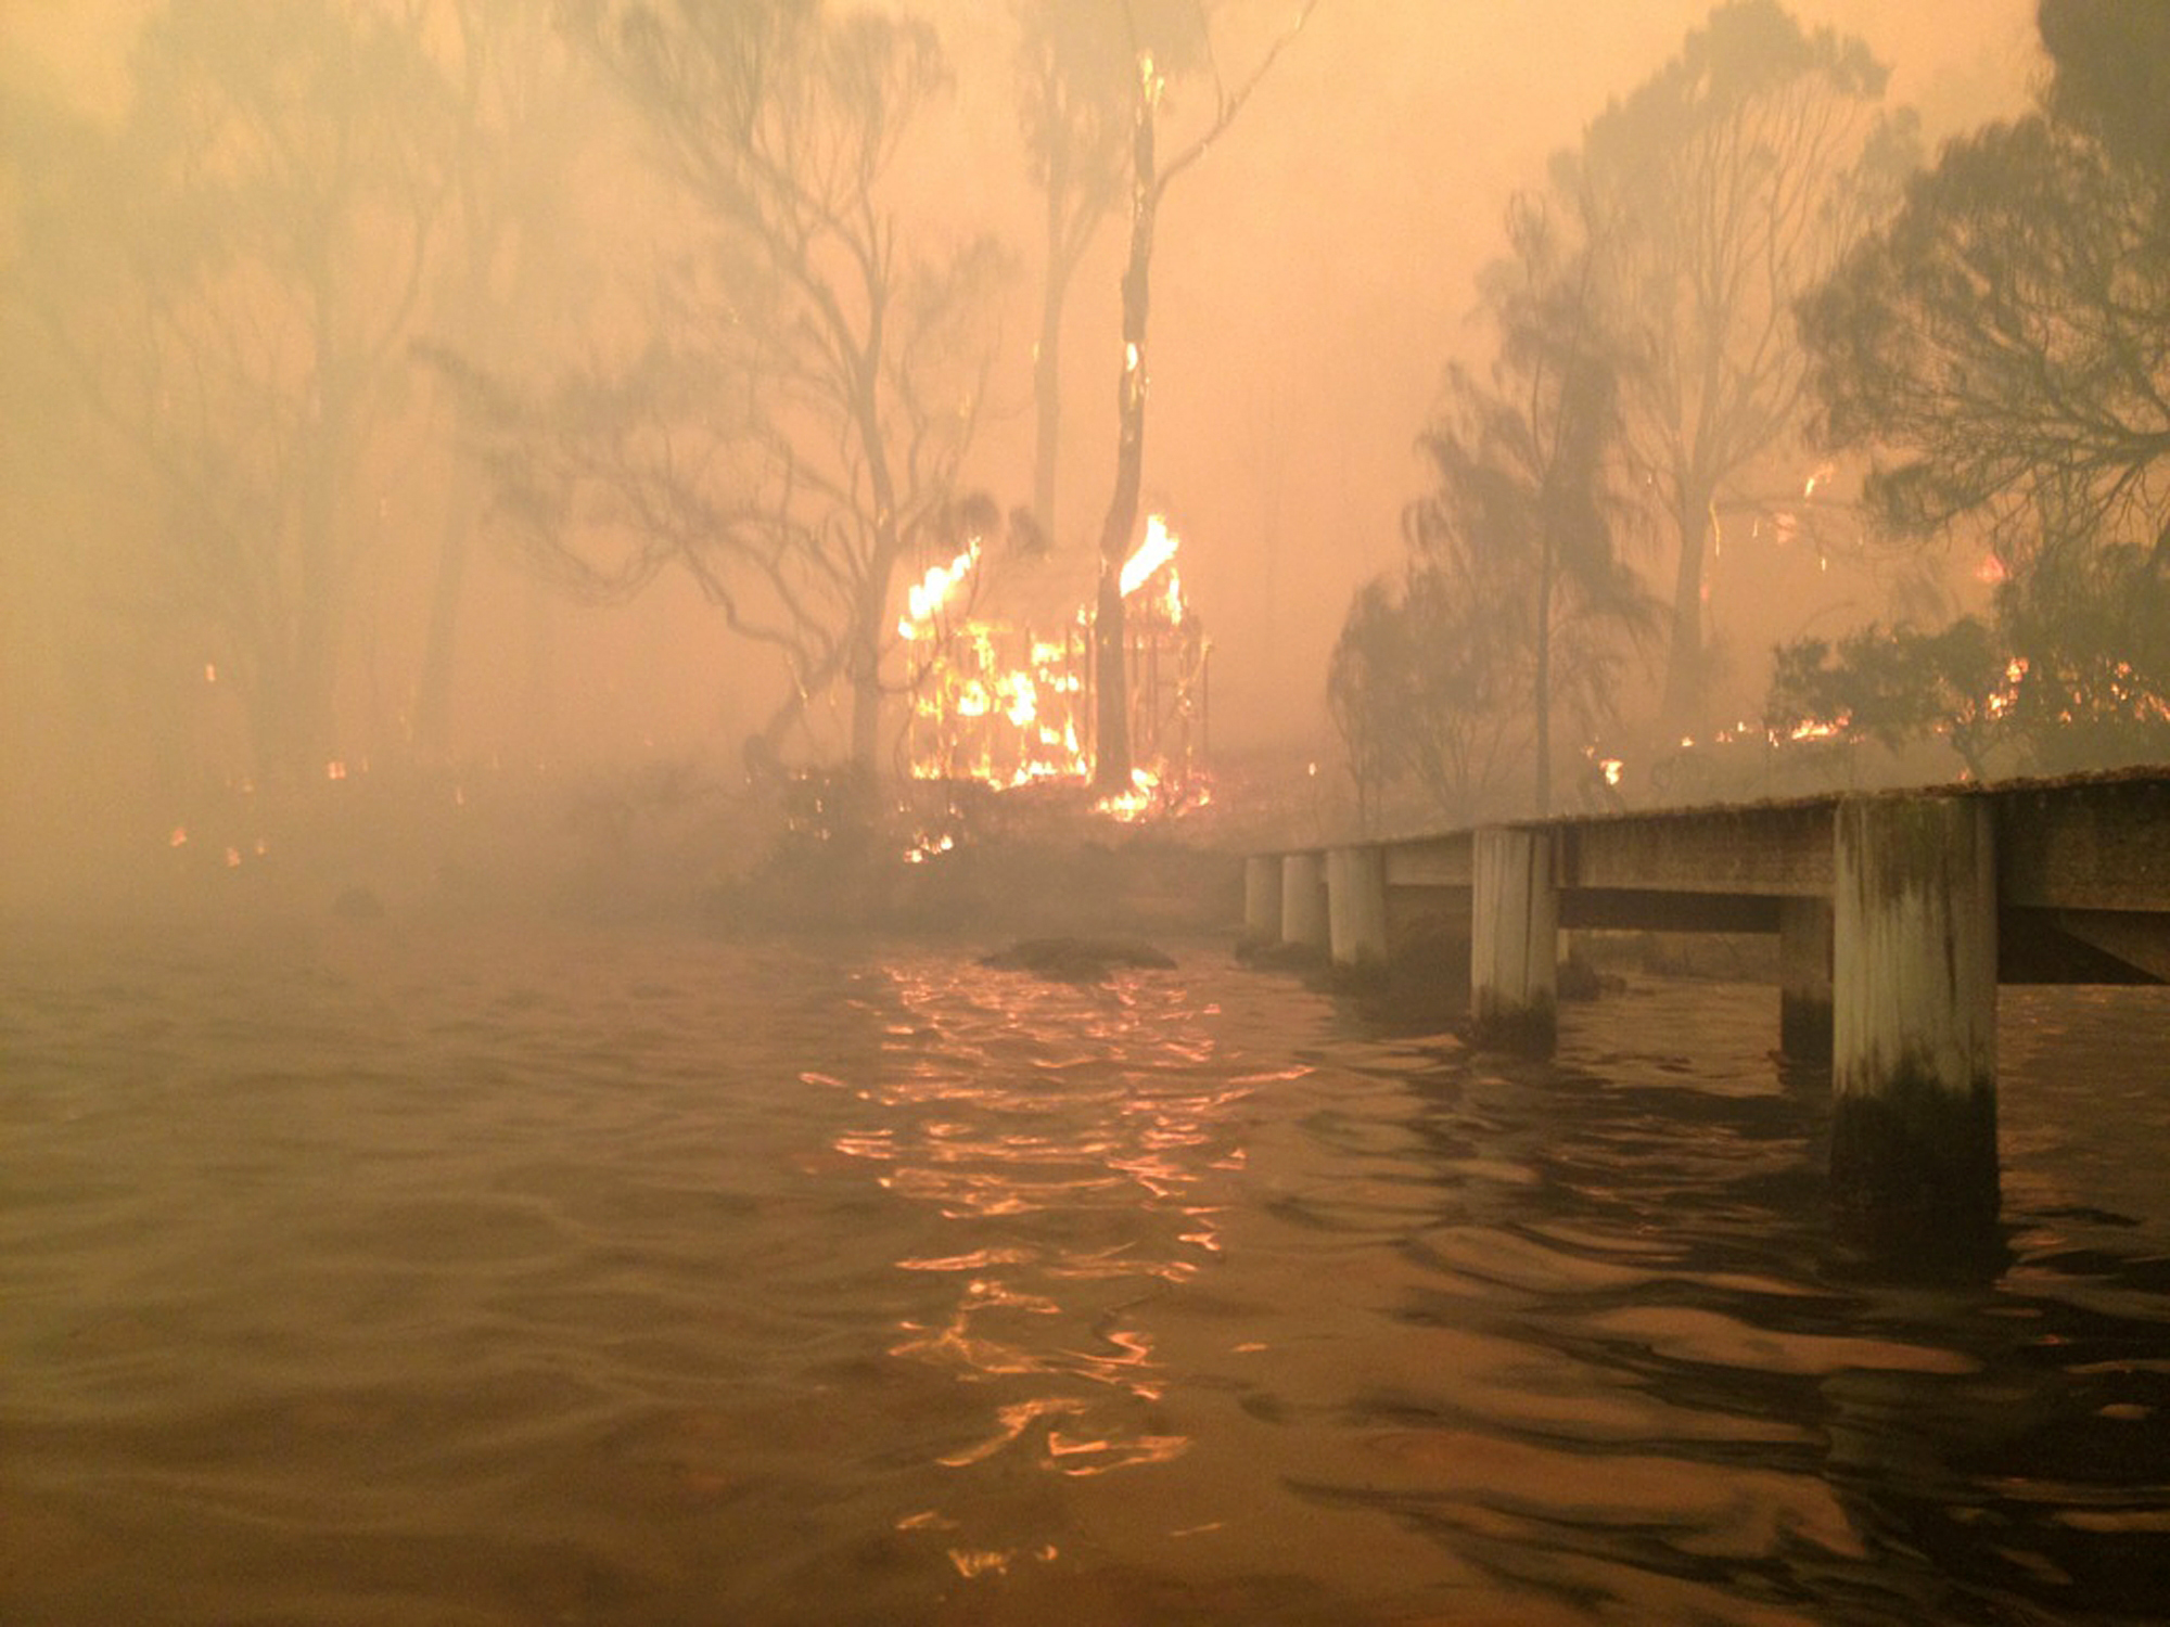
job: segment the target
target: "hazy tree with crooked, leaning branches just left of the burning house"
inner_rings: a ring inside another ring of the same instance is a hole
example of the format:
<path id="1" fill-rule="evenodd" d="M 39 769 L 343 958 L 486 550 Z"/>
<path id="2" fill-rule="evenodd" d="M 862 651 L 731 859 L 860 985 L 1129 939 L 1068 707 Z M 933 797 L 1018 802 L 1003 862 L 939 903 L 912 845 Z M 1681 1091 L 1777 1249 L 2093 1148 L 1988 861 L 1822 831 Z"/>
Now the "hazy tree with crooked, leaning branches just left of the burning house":
<path id="1" fill-rule="evenodd" d="M 842 690 L 872 774 L 894 575 L 955 514 L 1003 276 L 987 236 L 916 249 L 885 187 L 948 85 L 935 35 L 818 0 L 573 0 L 566 24 L 686 232 L 631 354 L 490 382 L 499 512 L 590 594 L 686 571 L 788 666 L 749 748 Z"/>

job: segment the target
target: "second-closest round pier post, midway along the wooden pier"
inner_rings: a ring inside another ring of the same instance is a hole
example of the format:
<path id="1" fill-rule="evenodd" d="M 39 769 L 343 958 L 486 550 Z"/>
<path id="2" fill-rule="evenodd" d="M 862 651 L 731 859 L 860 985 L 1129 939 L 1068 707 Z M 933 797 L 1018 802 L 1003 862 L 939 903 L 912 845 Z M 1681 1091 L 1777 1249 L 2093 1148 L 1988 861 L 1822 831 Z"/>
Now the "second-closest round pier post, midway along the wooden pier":
<path id="1" fill-rule="evenodd" d="M 1482 829 L 1471 870 L 1469 1033 L 1545 1056 L 1558 1037 L 1560 974 L 1552 833 Z"/>

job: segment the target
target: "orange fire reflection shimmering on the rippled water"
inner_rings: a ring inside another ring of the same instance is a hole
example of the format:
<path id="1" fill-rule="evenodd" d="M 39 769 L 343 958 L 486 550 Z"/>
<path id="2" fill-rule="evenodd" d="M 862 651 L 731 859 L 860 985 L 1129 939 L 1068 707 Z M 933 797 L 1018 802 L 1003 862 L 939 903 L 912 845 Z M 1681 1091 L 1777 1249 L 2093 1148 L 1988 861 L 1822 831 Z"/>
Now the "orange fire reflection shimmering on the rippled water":
<path id="1" fill-rule="evenodd" d="M 833 1141 L 942 1219 L 955 1247 L 898 1271 L 955 1284 L 898 1323 L 890 1356 L 985 1386 L 987 1427 L 944 1469 L 1063 1477 L 1165 1464 L 1187 1434 L 1159 1417 L 1154 1304 L 1220 1254 L 1243 1104 L 1180 978 L 1046 985 L 955 965 L 894 968 L 879 1080 L 818 1082 L 879 1117 Z M 1029 1039 L 1026 1039 L 1029 1037 Z M 953 1510 L 898 1529 L 955 1532 Z M 953 1547 L 961 1575 L 1057 1558 L 1052 1545 Z"/>

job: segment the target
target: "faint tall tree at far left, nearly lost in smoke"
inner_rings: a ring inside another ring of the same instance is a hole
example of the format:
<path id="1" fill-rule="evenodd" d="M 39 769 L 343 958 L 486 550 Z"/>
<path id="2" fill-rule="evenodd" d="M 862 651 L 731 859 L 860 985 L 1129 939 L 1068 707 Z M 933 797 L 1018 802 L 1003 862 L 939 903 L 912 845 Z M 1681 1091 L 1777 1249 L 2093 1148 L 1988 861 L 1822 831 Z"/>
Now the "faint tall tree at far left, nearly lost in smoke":
<path id="1" fill-rule="evenodd" d="M 154 516 L 141 586 L 241 696 L 256 774 L 323 774 L 445 89 L 412 11 L 365 0 L 176 2 L 132 67 L 117 128 L 17 130 L 9 293 Z"/>

